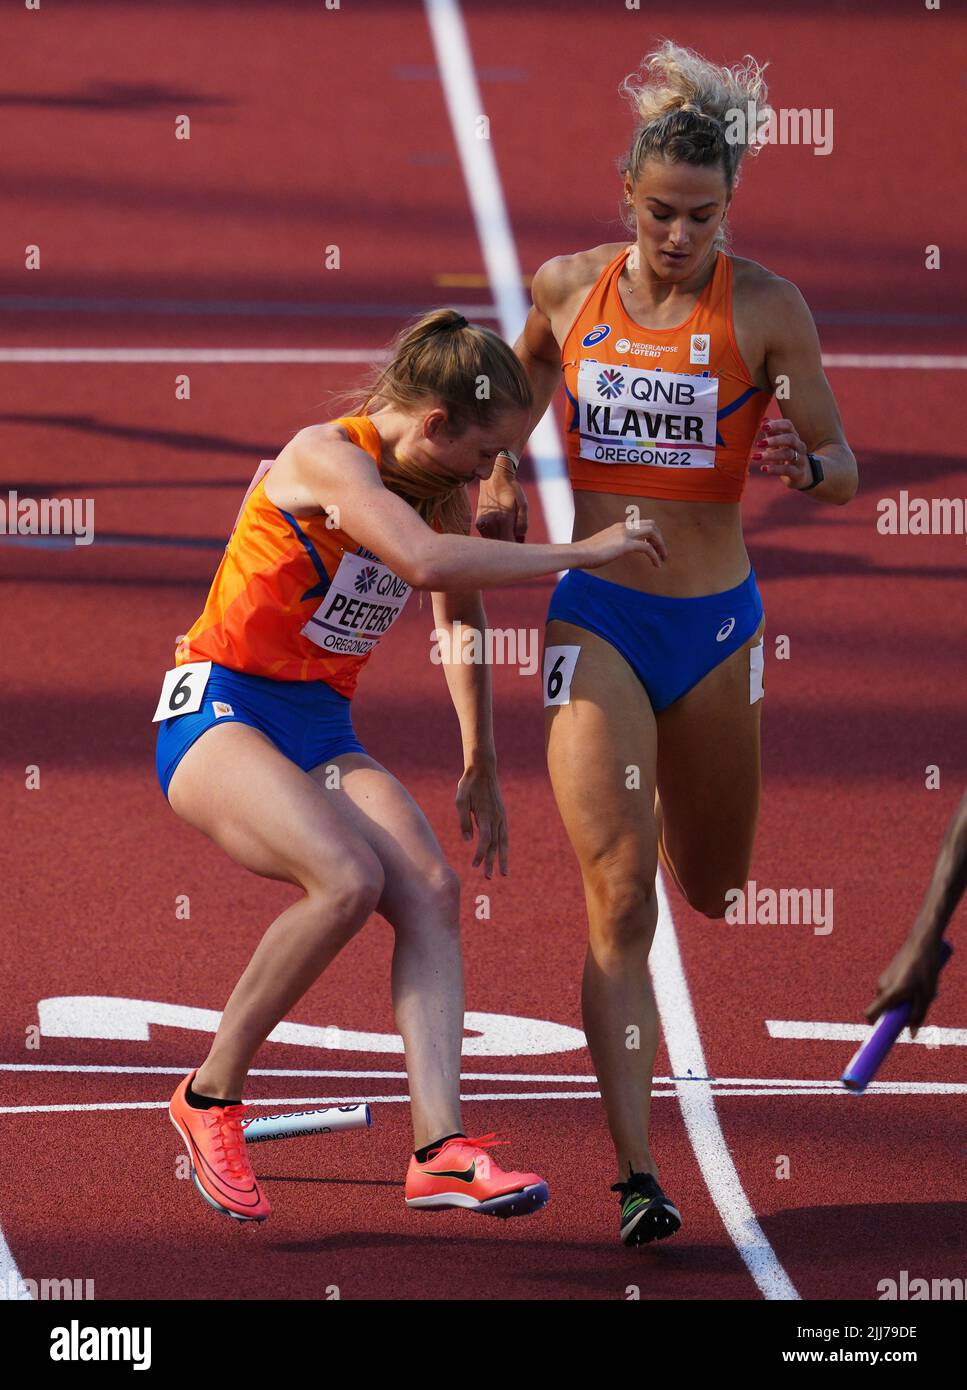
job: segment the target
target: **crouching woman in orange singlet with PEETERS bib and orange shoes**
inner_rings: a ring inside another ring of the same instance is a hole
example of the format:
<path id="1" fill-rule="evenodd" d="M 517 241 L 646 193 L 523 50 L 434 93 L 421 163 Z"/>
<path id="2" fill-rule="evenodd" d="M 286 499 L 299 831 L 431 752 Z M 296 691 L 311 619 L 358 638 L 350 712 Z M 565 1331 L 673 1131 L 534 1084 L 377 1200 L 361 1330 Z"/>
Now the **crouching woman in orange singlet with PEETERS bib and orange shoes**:
<path id="1" fill-rule="evenodd" d="M 481 377 L 490 384 L 478 399 Z M 408 1207 L 496 1216 L 536 1211 L 547 1186 L 504 1172 L 460 1123 L 463 966 L 458 883 L 425 816 L 353 733 L 350 696 L 411 588 L 438 628 L 485 624 L 481 588 L 640 553 L 657 527 L 622 521 L 574 545 L 471 538 L 467 484 L 525 428 L 531 386 L 496 334 L 452 310 L 397 341 L 352 416 L 311 425 L 260 470 L 204 612 L 179 644 L 157 717 L 172 810 L 236 863 L 301 897 L 270 926 L 225 1005 L 211 1049 L 170 1116 L 201 1197 L 238 1220 L 268 1200 L 246 1155 L 242 1090 L 256 1052 L 372 912 L 393 927 L 392 992 L 413 1097 Z M 449 649 L 453 649 L 453 644 Z M 486 666 L 446 678 L 460 720 L 457 812 L 474 865 L 507 872 Z"/>

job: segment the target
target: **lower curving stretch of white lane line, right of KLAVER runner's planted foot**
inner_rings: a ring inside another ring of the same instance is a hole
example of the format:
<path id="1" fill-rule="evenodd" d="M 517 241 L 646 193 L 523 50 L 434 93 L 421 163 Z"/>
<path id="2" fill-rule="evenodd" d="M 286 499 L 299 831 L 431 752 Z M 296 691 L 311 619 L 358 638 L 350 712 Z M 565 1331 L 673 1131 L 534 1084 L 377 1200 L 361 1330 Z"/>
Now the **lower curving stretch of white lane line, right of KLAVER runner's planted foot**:
<path id="1" fill-rule="evenodd" d="M 696 1076 L 707 1076 L 699 1026 L 660 872 L 656 892 L 659 927 L 649 963 L 668 1059 L 678 1076 L 685 1076 L 689 1070 Z M 799 1298 L 745 1194 L 718 1122 L 711 1084 L 678 1081 L 675 1090 L 706 1187 L 749 1273 L 766 1298 Z"/>

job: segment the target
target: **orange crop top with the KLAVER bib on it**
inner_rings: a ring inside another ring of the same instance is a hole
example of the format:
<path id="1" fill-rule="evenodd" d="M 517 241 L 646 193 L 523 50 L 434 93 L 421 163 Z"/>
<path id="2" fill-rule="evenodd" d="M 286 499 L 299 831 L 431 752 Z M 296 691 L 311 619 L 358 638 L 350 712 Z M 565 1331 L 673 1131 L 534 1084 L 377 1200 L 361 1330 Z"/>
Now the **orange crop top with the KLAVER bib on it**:
<path id="1" fill-rule="evenodd" d="M 609 261 L 564 339 L 571 486 L 585 492 L 738 502 L 770 396 L 735 345 L 732 260 L 678 328 L 642 328 L 625 313 Z"/>

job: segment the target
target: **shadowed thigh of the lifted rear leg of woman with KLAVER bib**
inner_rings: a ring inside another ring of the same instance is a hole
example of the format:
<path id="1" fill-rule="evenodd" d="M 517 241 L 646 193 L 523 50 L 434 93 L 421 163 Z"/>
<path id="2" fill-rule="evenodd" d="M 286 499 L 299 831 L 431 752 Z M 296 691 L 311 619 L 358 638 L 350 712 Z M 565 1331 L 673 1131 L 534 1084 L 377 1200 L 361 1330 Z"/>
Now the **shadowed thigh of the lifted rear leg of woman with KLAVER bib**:
<path id="1" fill-rule="evenodd" d="M 750 703 L 759 632 L 657 716 L 657 790 L 666 852 L 679 872 L 713 878 L 752 855 L 759 816 L 763 702 Z"/>

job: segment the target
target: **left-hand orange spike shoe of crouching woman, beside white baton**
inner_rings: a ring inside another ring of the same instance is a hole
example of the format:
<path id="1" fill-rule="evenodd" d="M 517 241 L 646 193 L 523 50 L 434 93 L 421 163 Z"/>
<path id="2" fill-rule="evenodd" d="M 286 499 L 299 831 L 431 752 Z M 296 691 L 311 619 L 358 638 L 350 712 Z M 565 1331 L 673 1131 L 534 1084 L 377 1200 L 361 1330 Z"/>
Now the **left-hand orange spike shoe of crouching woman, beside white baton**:
<path id="1" fill-rule="evenodd" d="M 168 1105 L 168 1118 L 185 1140 L 192 1159 L 192 1179 L 208 1207 L 235 1220 L 265 1220 L 272 1209 L 265 1200 L 245 1151 L 239 1120 L 247 1105 L 215 1105 L 196 1111 L 186 1099 L 189 1073 Z"/>

